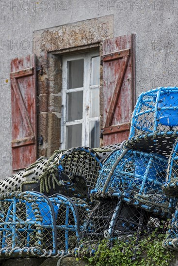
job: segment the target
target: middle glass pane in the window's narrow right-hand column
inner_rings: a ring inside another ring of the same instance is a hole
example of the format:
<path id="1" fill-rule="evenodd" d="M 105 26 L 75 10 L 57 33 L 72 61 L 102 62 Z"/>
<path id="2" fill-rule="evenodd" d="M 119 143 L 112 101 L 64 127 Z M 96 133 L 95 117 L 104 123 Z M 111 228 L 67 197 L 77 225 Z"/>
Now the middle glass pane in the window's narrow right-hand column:
<path id="1" fill-rule="evenodd" d="M 90 117 L 99 117 L 99 88 L 91 89 Z"/>

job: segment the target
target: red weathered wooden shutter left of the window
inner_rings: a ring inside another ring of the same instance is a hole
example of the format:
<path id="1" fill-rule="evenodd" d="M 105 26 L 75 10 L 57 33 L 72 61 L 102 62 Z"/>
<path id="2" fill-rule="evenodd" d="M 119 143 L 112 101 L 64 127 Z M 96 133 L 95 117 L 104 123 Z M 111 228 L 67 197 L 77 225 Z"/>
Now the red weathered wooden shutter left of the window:
<path id="1" fill-rule="evenodd" d="M 11 61 L 12 169 L 35 162 L 37 156 L 35 56 Z"/>

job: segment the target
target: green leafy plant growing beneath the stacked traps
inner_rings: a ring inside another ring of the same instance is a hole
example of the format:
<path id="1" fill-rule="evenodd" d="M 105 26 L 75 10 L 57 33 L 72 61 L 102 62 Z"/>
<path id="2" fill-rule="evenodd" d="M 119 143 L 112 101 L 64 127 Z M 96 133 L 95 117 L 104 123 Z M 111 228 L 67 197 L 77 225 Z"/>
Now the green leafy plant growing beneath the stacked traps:
<path id="1" fill-rule="evenodd" d="M 149 236 L 143 236 L 139 241 L 136 236 L 129 240 L 120 238 L 113 242 L 111 249 L 108 240 L 103 239 L 98 243 L 93 256 L 85 258 L 89 265 L 96 266 L 168 266 L 174 253 L 162 247 L 164 238 L 165 235 L 157 234 L 156 231 Z M 83 249 L 87 254 L 86 246 Z"/>

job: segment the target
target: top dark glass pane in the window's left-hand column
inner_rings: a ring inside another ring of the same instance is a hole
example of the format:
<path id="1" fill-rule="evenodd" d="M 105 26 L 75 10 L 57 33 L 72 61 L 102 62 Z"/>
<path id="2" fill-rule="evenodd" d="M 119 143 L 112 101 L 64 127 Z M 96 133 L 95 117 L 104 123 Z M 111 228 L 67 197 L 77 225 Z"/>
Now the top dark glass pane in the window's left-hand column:
<path id="1" fill-rule="evenodd" d="M 83 59 L 68 61 L 67 89 L 83 87 Z"/>

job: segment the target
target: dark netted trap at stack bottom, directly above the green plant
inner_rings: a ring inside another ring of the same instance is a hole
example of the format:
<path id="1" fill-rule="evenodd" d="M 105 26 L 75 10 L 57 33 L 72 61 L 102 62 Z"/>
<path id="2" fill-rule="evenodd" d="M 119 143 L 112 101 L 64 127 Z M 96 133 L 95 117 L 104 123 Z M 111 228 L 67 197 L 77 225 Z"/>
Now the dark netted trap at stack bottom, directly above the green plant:
<path id="1" fill-rule="evenodd" d="M 167 224 L 166 219 L 152 216 L 150 212 L 128 205 L 120 199 L 103 199 L 91 209 L 86 219 L 76 255 L 92 256 L 98 243 L 104 238 L 108 239 L 112 246 L 114 239 L 129 242 L 134 236 L 138 241 L 156 228 L 158 234 L 165 233 Z"/>

